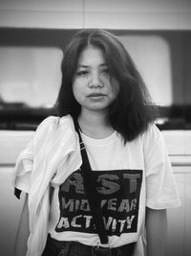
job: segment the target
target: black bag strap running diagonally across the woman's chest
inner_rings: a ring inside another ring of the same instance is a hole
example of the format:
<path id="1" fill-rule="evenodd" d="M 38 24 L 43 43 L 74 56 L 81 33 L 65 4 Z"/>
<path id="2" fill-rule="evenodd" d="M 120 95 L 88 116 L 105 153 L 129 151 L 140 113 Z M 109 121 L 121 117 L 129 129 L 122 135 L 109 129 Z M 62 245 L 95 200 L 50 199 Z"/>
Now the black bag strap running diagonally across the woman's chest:
<path id="1" fill-rule="evenodd" d="M 79 144 L 82 158 L 82 165 L 80 169 L 83 175 L 84 189 L 86 191 L 87 198 L 90 204 L 93 220 L 95 221 L 96 231 L 98 233 L 101 244 L 108 244 L 108 237 L 100 209 L 100 201 L 98 200 L 98 194 L 96 192 L 96 180 L 94 179 L 94 176 L 92 174 L 92 169 L 88 159 L 87 151 L 82 141 L 81 134 L 79 131 L 80 128 L 76 120 L 74 120 L 74 128 L 79 136 Z"/>

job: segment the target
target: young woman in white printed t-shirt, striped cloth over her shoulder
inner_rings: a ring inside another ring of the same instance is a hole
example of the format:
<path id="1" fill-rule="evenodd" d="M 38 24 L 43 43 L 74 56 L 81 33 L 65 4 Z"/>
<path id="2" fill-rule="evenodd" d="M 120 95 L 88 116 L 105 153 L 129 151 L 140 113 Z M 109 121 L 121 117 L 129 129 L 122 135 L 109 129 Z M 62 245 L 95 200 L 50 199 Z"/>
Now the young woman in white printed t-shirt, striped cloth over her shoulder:
<path id="1" fill-rule="evenodd" d="M 166 208 L 180 198 L 132 58 L 115 35 L 82 30 L 64 53 L 62 75 L 58 116 L 39 125 L 16 163 L 16 194 L 27 196 L 15 255 L 164 255 Z M 94 184 L 85 182 L 81 143 Z"/>

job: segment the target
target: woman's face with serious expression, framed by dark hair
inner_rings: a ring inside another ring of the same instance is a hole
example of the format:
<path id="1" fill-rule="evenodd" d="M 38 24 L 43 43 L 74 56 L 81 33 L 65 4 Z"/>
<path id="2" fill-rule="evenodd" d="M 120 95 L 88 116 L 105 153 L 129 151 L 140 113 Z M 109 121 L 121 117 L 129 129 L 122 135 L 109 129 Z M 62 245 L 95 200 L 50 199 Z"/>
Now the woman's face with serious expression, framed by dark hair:
<path id="1" fill-rule="evenodd" d="M 118 86 L 115 86 L 118 87 Z M 78 58 L 73 81 L 74 98 L 83 111 L 108 111 L 117 97 L 117 88 L 110 83 L 109 70 L 102 51 L 85 48 Z"/>

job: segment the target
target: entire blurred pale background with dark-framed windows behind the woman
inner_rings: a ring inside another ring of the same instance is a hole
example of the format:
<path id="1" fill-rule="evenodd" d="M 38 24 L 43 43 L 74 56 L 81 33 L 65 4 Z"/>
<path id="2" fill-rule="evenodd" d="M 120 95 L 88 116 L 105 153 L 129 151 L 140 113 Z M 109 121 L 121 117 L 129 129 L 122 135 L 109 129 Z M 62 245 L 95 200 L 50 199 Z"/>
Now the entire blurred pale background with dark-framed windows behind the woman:
<path id="1" fill-rule="evenodd" d="M 159 105 L 157 125 L 182 200 L 168 211 L 166 255 L 191 255 L 189 0 L 0 0 L 0 255 L 13 255 L 23 203 L 13 197 L 15 159 L 37 125 L 55 114 L 63 49 L 82 28 L 117 35 Z"/>

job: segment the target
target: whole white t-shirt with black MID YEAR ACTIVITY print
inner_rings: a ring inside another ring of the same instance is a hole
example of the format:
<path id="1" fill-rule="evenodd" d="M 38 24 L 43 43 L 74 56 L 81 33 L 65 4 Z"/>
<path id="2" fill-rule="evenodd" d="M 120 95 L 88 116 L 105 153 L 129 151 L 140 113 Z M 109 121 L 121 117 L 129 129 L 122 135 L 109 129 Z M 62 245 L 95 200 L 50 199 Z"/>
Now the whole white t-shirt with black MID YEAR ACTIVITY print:
<path id="1" fill-rule="evenodd" d="M 125 145 L 117 131 L 104 139 L 81 135 L 96 180 L 109 244 L 116 247 L 138 242 L 146 206 L 162 209 L 179 202 L 158 128 L 152 126 Z M 54 188 L 49 231 L 59 241 L 100 244 L 80 170 L 74 170 Z"/>

